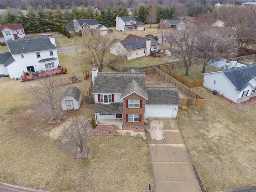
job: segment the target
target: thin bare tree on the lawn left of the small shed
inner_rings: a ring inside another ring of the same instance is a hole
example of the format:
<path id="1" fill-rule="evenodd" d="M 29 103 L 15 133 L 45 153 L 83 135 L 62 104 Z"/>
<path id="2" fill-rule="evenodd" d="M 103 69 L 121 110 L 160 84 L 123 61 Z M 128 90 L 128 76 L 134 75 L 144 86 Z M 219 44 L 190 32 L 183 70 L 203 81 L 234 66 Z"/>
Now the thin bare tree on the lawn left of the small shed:
<path id="1" fill-rule="evenodd" d="M 56 117 L 56 108 L 59 104 L 58 87 L 52 87 L 51 82 L 53 81 L 53 76 L 37 78 L 36 81 L 39 83 L 38 87 L 28 86 L 27 92 L 34 98 L 40 101 L 40 106 L 46 108 L 51 114 L 51 116 Z"/>

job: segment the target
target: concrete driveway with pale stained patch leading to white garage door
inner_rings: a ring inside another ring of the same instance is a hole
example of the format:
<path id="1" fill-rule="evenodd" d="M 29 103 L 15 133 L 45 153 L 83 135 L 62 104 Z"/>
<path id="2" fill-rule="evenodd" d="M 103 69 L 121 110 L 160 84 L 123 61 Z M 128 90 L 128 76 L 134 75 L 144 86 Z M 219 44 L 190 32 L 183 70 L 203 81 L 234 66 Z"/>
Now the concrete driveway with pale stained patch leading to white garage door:
<path id="1" fill-rule="evenodd" d="M 155 192 L 201 192 L 174 118 L 147 118 Z"/>

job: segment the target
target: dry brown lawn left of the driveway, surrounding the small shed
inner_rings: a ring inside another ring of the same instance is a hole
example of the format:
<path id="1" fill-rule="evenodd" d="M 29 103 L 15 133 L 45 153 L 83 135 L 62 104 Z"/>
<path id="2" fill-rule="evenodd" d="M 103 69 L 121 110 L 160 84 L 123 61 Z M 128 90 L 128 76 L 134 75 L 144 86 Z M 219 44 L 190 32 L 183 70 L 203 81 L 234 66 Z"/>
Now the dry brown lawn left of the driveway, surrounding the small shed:
<path id="1" fill-rule="evenodd" d="M 75 66 L 76 53 L 59 54 L 59 60 L 68 74 L 54 78 L 78 76 L 82 82 L 68 86 L 78 87 L 83 99 L 78 111 L 64 112 L 58 106 L 59 124 L 48 124 L 50 115 L 26 95 L 28 85 L 38 86 L 36 80 L 0 78 L 0 182 L 56 192 L 145 191 L 153 178 L 142 138 L 96 136 L 86 144 L 89 154 L 84 160 L 75 158 L 77 148 L 62 144 L 61 130 L 78 117 L 92 118 L 93 105 L 84 101 L 91 77 L 84 80 L 82 73 L 91 66 Z M 59 98 L 68 86 L 59 87 Z"/>

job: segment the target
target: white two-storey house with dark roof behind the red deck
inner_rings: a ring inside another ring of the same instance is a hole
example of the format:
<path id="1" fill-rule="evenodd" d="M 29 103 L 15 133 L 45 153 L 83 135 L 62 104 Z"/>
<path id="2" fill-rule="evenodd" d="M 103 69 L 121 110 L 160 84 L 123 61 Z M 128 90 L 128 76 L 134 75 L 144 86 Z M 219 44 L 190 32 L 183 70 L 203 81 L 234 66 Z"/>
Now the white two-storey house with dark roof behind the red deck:
<path id="1" fill-rule="evenodd" d="M 59 59 L 52 37 L 7 41 L 10 52 L 0 53 L 0 74 L 19 80 L 24 72 L 56 69 Z"/>

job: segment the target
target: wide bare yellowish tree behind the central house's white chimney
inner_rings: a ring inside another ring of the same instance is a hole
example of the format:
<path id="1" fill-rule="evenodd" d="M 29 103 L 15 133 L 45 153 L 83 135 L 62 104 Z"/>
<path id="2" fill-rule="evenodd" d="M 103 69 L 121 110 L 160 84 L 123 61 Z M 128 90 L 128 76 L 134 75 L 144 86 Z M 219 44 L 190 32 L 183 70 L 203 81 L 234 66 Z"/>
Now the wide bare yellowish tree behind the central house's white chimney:
<path id="1" fill-rule="evenodd" d="M 124 60 L 124 55 L 119 54 L 114 56 L 109 53 L 112 47 L 111 39 L 107 35 L 100 35 L 99 30 L 92 31 L 91 35 L 87 38 L 83 38 L 82 54 L 78 53 L 81 64 L 93 65 L 98 68 L 99 72 L 102 72 L 103 68 L 109 66 L 111 63 Z"/>

